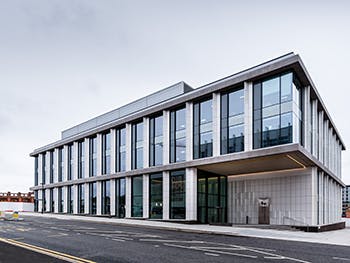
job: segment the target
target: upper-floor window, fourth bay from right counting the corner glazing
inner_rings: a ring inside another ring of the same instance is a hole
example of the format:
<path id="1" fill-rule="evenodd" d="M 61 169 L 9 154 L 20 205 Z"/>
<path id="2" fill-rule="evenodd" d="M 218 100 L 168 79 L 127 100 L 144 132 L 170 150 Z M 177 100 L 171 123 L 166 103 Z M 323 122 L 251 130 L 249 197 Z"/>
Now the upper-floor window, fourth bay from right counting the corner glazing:
<path id="1" fill-rule="evenodd" d="M 186 108 L 170 112 L 170 162 L 186 161 Z"/>

